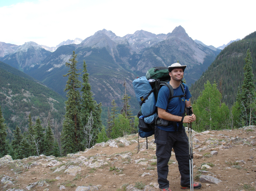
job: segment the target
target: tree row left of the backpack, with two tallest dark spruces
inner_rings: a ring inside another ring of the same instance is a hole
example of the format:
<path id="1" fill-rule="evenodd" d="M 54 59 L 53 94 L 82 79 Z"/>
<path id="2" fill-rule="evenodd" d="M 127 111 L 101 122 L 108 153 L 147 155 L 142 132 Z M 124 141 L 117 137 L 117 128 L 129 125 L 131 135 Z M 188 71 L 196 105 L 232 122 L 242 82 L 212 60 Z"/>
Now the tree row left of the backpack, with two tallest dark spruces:
<path id="1" fill-rule="evenodd" d="M 97 142 L 115 139 L 137 131 L 134 116 L 130 111 L 130 96 L 126 92 L 124 80 L 124 106 L 120 114 L 116 109 L 115 100 L 112 101 L 112 112 L 108 113 L 107 126 L 102 125 L 102 104 L 96 103 L 89 83 L 87 65 L 83 61 L 82 82 L 79 80 L 77 66 L 77 54 L 73 51 L 72 58 L 66 63 L 69 71 L 64 77 L 68 77 L 64 91 L 67 92 L 66 113 L 63 120 L 60 141 L 55 139 L 48 116 L 48 125 L 43 128 L 41 120 L 37 117 L 33 124 L 31 114 L 28 117 L 28 128 L 23 133 L 19 126 L 13 131 L 13 140 L 6 139 L 7 125 L 0 107 L 0 157 L 10 154 L 13 159 L 23 159 L 28 156 L 45 154 L 55 157 L 65 156 L 68 153 L 83 151 Z"/>

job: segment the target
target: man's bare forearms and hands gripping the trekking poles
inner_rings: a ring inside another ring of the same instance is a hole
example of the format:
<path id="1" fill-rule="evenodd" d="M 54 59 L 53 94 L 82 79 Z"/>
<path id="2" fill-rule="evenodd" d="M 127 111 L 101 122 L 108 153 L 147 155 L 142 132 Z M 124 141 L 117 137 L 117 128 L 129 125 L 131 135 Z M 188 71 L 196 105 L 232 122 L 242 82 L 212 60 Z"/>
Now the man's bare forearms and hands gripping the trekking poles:
<path id="1" fill-rule="evenodd" d="M 185 102 L 185 107 L 189 107 L 189 106 L 191 106 L 191 102 L 190 102 L 190 100 L 187 100 Z M 162 109 L 159 107 L 157 108 L 157 111 L 158 111 L 158 117 L 168 120 L 168 121 L 180 122 L 182 119 L 181 116 L 174 116 L 173 114 L 166 112 L 165 109 Z M 192 114 L 192 116 L 185 116 L 183 119 L 183 123 L 191 123 L 195 120 L 196 120 L 196 116 L 194 114 Z"/>

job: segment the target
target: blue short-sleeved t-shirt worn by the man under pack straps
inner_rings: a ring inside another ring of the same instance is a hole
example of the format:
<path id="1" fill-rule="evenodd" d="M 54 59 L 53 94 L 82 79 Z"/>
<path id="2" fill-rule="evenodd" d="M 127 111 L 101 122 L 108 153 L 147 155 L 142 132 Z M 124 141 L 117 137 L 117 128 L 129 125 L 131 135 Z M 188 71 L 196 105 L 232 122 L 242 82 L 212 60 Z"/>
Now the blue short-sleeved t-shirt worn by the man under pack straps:
<path id="1" fill-rule="evenodd" d="M 155 106 L 165 109 L 168 113 L 173 114 L 174 116 L 182 116 L 185 109 L 185 100 L 190 99 L 191 94 L 188 90 L 188 86 L 185 84 L 185 97 L 173 97 L 171 101 L 168 103 L 168 98 L 170 95 L 170 91 L 166 86 L 162 86 L 159 90 L 157 96 L 157 103 Z M 184 95 L 182 92 L 181 85 L 173 89 L 173 96 L 176 95 Z M 179 126 L 179 122 L 177 122 L 177 127 Z M 173 124 L 170 126 L 157 126 L 157 128 L 162 129 L 164 131 L 176 131 Z"/>

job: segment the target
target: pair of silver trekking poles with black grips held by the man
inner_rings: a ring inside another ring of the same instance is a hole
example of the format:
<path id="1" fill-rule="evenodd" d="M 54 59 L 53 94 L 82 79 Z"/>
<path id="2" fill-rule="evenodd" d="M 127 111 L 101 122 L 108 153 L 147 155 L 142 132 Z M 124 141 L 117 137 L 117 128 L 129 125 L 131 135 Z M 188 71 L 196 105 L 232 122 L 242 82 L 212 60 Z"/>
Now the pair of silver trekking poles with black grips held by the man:
<path id="1" fill-rule="evenodd" d="M 192 116 L 192 106 L 187 107 L 187 116 Z M 189 175 L 190 175 L 190 191 L 194 191 L 193 179 L 193 146 L 192 146 L 192 124 L 188 123 L 188 147 L 189 147 Z"/>

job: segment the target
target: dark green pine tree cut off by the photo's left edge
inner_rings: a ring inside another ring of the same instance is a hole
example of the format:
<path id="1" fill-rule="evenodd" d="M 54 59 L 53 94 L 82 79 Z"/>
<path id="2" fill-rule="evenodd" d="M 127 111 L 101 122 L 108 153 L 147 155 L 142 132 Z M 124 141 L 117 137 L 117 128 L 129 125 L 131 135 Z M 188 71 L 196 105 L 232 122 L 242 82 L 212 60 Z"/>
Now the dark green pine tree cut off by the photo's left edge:
<path id="1" fill-rule="evenodd" d="M 5 119 L 3 118 L 2 109 L 0 106 L 0 157 L 3 157 L 9 153 L 8 151 L 9 144 L 8 144 L 8 140 L 6 139 L 7 126 L 4 122 L 5 122 Z"/>

